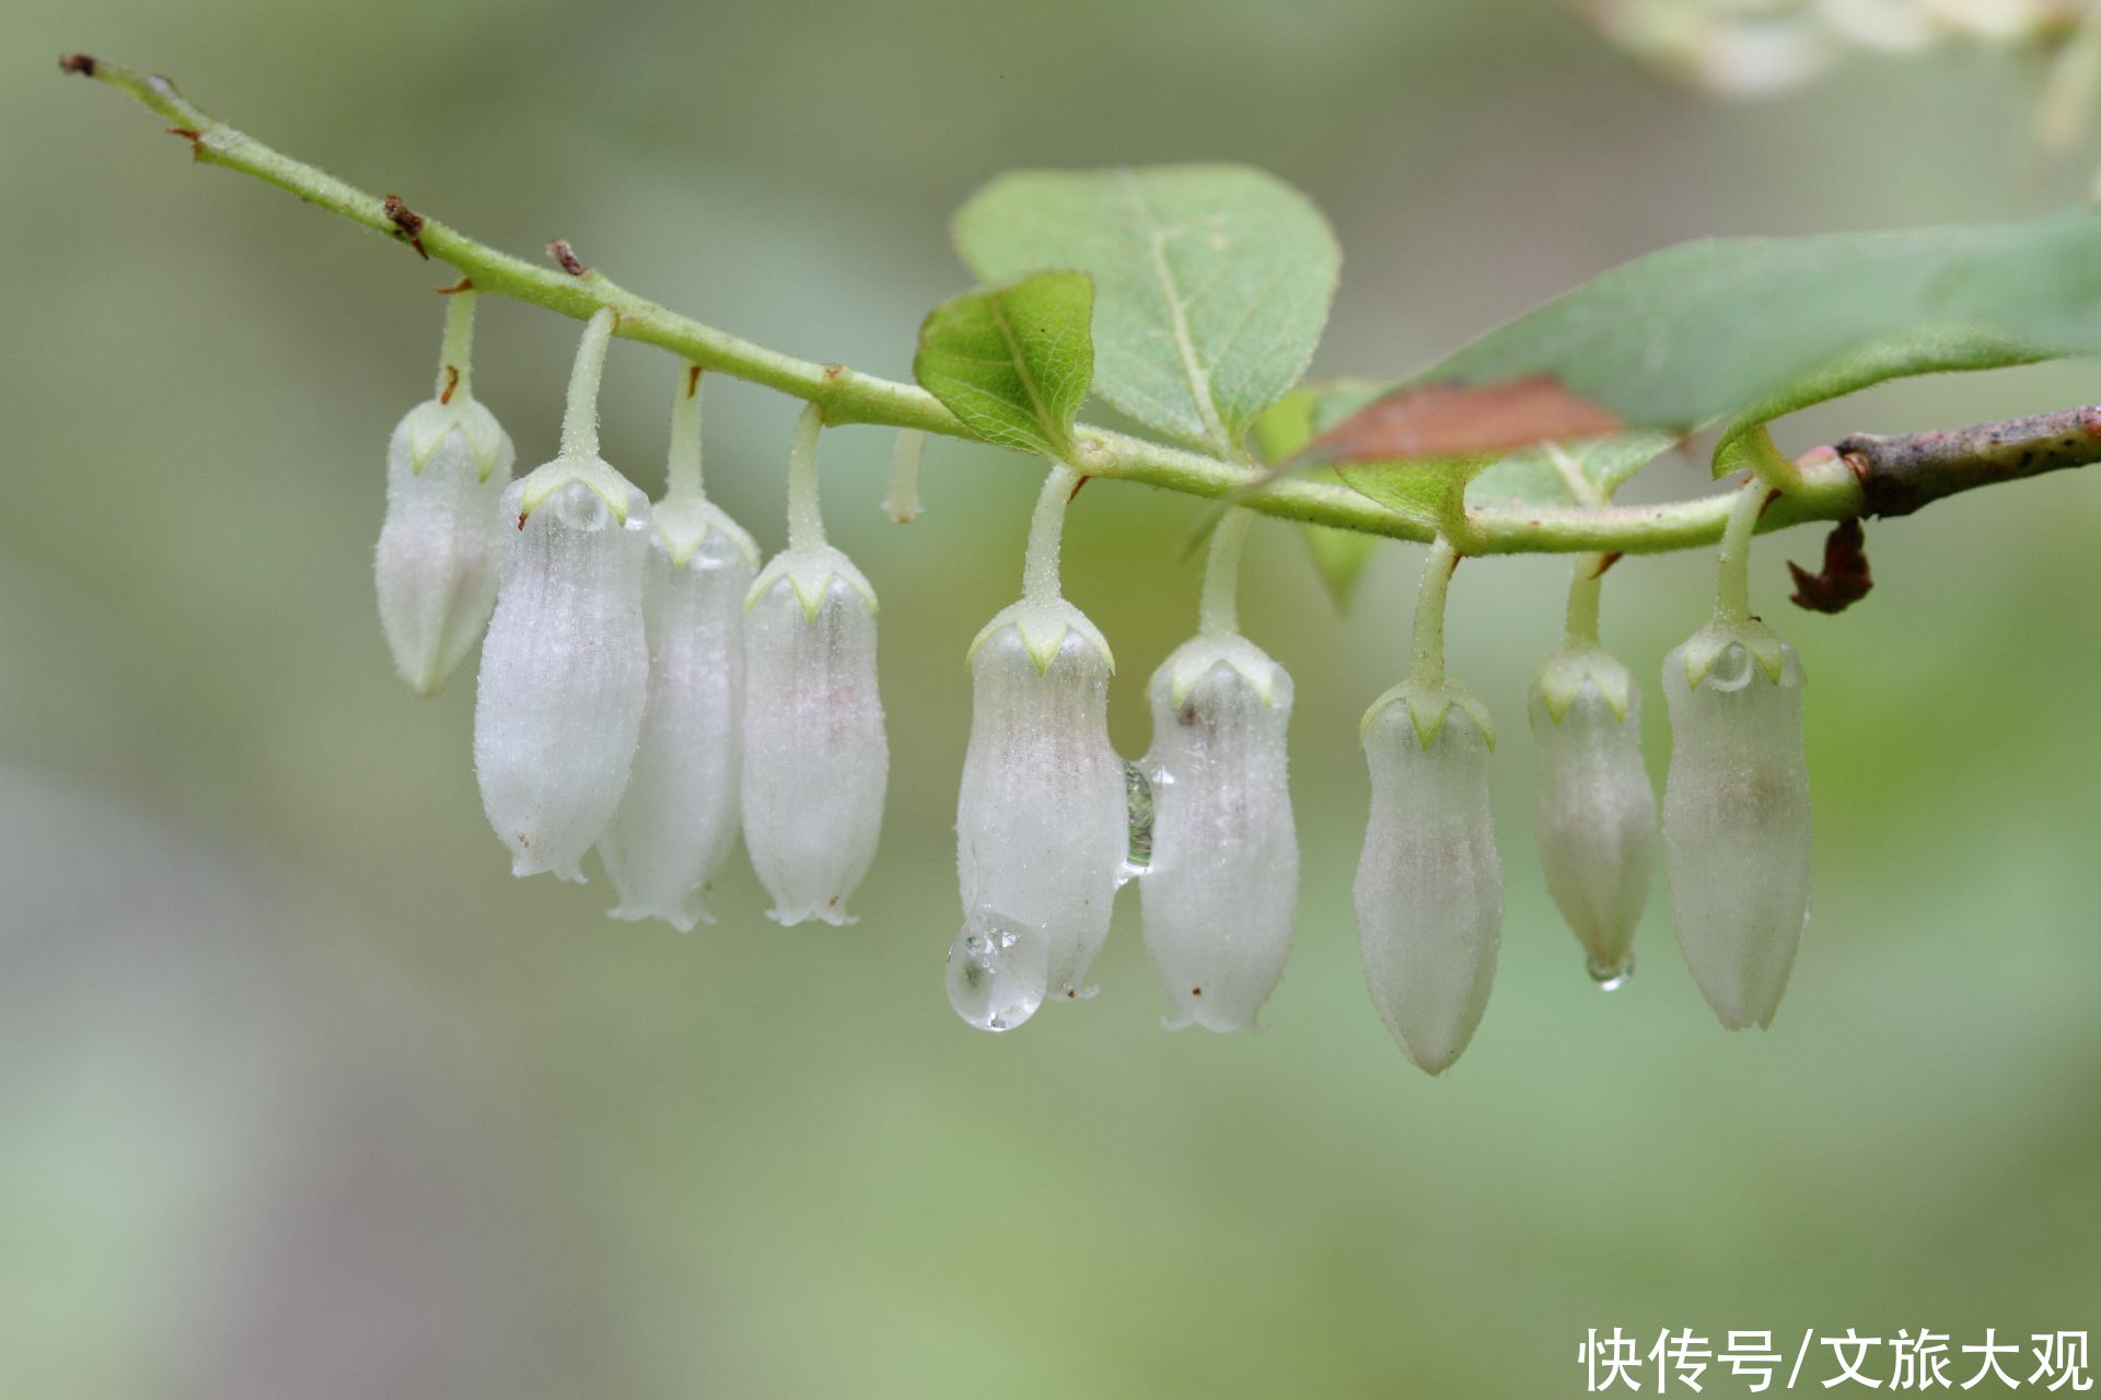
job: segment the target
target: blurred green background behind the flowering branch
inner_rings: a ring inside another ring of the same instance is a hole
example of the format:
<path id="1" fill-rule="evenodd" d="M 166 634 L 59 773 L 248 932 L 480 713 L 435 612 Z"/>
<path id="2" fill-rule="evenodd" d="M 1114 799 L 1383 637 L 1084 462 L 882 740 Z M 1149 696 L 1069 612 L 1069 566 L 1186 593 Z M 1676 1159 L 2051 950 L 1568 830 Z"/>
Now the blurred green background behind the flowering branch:
<path id="1" fill-rule="evenodd" d="M 1870 527 L 1876 594 L 1796 642 L 1815 915 L 1723 1033 L 1658 892 L 1601 995 L 1532 858 L 1521 695 L 1565 565 L 1462 571 L 1452 670 L 1504 720 L 1502 966 L 1429 1081 L 1357 972 L 1361 707 L 1416 552 L 1336 617 L 1256 531 L 1250 636 L 1298 680 L 1298 942 L 1263 1037 L 1164 1035 L 1135 894 L 1103 993 L 985 1037 L 954 936 L 962 646 L 1015 596 L 1036 472 L 824 443 L 885 600 L 893 777 L 859 926 L 782 932 L 740 865 L 698 936 L 517 884 L 471 676 L 418 703 L 372 602 L 382 445 L 429 393 L 424 267 L 191 170 L 61 50 L 479 237 L 811 359 L 910 376 L 966 283 L 948 212 L 1008 166 L 1242 160 L 1347 250 L 1322 372 L 1399 372 L 1649 248 L 2019 216 L 2030 76 L 1861 59 L 1756 107 L 1660 86 L 1530 0 L 777 6 L 0 4 L 0 1390 L 11 1396 L 1559 1396 L 1584 1329 L 1975 1341 L 2101 1314 L 2101 474 Z M 550 453 L 576 325 L 483 309 L 477 386 Z M 616 346 L 607 455 L 660 485 L 672 365 Z M 2095 397 L 1933 380 L 1790 449 Z M 719 382 L 710 489 L 782 542 L 794 405 Z M 1664 462 L 1649 495 L 1704 489 Z M 1191 502 L 1097 485 L 1067 592 L 1143 678 L 1193 628 Z M 1622 565 L 1653 676 L 1712 565 Z M 1651 684 L 1651 768 L 1668 737 Z M 1811 1362 L 1815 1364 L 1815 1362 Z M 1828 1375 L 1828 1371 L 1826 1371 Z M 1967 1375 L 1967 1366 L 1964 1366 Z M 1740 1381 L 1708 1377 L 1710 1394 Z M 1809 1375 L 1803 1377 L 1809 1387 Z"/>

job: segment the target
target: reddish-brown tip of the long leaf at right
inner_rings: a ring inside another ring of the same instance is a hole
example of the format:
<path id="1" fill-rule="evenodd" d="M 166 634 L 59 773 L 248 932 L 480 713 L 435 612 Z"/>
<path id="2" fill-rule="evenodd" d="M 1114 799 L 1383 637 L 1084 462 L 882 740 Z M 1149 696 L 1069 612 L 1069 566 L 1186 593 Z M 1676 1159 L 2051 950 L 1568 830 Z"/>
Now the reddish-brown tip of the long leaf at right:
<path id="1" fill-rule="evenodd" d="M 1551 374 L 1504 384 L 1414 384 L 1357 409 L 1301 462 L 1483 458 L 1538 443 L 1605 437 L 1626 424 Z"/>

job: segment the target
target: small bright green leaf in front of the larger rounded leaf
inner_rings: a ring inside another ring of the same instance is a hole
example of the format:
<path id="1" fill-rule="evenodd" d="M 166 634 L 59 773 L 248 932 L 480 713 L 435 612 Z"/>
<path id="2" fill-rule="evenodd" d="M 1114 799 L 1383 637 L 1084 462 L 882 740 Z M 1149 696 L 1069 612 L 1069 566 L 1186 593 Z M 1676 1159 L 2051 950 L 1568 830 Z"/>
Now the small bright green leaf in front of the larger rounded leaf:
<path id="1" fill-rule="evenodd" d="M 912 374 L 987 443 L 1065 460 L 1095 378 L 1093 311 L 1086 273 L 964 292 L 927 313 Z"/>

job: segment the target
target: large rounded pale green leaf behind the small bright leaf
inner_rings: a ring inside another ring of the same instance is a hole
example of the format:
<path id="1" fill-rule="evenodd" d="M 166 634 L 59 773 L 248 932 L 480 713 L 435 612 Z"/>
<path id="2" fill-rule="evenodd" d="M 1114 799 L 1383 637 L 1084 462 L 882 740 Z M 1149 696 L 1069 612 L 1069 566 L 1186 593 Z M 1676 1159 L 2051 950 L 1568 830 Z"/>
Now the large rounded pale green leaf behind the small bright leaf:
<path id="1" fill-rule="evenodd" d="M 1305 374 L 1340 271 L 1319 210 L 1242 166 L 1002 174 L 956 248 L 987 281 L 1093 273 L 1101 397 L 1221 458 Z"/>

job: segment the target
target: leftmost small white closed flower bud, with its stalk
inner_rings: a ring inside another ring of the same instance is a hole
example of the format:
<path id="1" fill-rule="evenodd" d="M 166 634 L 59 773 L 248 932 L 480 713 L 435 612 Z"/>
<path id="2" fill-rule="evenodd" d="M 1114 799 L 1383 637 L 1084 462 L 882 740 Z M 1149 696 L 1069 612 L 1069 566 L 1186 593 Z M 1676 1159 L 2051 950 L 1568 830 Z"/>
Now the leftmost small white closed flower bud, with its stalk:
<path id="1" fill-rule="evenodd" d="M 412 407 L 387 443 L 387 521 L 372 573 L 387 649 L 416 695 L 437 695 L 496 607 L 515 453 L 475 399 L 473 327 L 475 294 L 452 294 L 437 397 Z"/>

